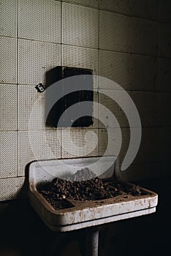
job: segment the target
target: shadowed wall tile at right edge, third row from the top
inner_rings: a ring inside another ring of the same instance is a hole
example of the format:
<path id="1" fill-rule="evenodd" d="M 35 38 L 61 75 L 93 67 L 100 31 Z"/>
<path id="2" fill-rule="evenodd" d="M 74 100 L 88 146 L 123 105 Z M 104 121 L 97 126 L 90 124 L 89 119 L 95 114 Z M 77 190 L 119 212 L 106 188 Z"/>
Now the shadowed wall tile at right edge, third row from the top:
<path id="1" fill-rule="evenodd" d="M 171 60 L 159 59 L 159 91 L 171 92 Z"/>

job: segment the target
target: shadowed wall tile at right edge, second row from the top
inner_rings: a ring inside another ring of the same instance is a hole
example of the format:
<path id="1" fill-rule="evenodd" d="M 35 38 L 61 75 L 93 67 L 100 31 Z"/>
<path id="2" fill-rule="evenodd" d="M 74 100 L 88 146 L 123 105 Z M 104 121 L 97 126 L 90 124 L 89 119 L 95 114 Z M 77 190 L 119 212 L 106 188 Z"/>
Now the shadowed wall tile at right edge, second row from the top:
<path id="1" fill-rule="evenodd" d="M 171 25 L 160 24 L 160 35 L 159 35 L 159 56 L 170 58 L 171 57 Z"/>

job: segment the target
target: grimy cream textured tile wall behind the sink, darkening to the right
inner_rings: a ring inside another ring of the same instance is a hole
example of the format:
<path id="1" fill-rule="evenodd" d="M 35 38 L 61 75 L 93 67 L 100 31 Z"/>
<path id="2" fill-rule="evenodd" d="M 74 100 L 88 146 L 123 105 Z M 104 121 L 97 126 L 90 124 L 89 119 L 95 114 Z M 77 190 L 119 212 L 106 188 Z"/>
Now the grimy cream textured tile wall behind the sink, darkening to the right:
<path id="1" fill-rule="evenodd" d="M 94 69 L 94 75 L 121 85 L 137 105 L 142 143 L 123 178 L 170 174 L 170 11 L 170 0 L 0 0 L 0 200 L 20 194 L 26 165 L 35 159 L 28 135 L 32 144 L 39 138 L 39 158 L 50 157 L 42 139 L 45 97 L 35 86 L 45 83 L 45 72 L 58 65 Z M 94 87 L 98 91 L 98 84 Z M 37 99 L 38 121 L 30 131 L 28 120 Z M 94 100 L 113 110 L 120 122 L 122 161 L 129 146 L 128 122 L 110 99 L 94 93 Z M 75 157 L 72 148 L 69 153 L 63 148 L 70 147 L 67 129 L 45 129 L 55 157 Z M 93 144 L 98 138 L 89 155 L 102 155 L 107 132 L 99 121 L 72 129 L 72 140 L 83 146 L 88 130 L 96 133 L 89 138 Z M 109 154 L 115 154 L 115 144 Z"/>

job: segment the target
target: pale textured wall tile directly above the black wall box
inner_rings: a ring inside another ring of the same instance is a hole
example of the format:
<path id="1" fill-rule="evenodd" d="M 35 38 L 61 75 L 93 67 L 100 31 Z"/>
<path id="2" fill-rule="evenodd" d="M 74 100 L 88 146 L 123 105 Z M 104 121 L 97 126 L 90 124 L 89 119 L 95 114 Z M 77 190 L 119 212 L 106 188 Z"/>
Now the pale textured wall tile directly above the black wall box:
<path id="1" fill-rule="evenodd" d="M 93 69 L 99 75 L 99 51 L 71 45 L 62 45 L 62 66 Z"/>

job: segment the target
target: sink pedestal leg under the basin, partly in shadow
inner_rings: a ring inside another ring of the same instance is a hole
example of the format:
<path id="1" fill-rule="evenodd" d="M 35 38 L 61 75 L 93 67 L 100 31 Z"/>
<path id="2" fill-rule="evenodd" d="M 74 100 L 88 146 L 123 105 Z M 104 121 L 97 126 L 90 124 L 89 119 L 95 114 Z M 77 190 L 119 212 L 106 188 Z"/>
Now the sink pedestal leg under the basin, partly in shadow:
<path id="1" fill-rule="evenodd" d="M 82 231 L 80 235 L 81 256 L 99 255 L 99 227 L 91 227 Z"/>

